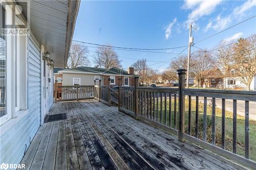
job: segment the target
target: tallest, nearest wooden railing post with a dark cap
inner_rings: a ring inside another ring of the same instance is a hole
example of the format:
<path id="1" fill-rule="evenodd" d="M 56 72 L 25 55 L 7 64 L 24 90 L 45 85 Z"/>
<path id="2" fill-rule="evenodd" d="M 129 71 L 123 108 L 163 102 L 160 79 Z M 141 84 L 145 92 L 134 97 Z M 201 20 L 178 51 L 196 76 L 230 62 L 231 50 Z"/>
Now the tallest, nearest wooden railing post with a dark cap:
<path id="1" fill-rule="evenodd" d="M 185 131 L 185 96 L 183 90 L 185 88 L 185 74 L 186 69 L 178 69 L 179 75 L 179 129 L 178 129 L 178 139 L 184 142 L 184 131 Z"/>

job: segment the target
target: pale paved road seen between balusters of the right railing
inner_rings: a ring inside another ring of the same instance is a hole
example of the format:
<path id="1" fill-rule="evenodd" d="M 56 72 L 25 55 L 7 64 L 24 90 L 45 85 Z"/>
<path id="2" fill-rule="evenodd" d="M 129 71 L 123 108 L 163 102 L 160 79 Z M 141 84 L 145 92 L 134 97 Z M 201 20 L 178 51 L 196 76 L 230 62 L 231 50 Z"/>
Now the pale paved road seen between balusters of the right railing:
<path id="1" fill-rule="evenodd" d="M 192 97 L 191 99 L 196 100 L 196 97 Z M 203 97 L 199 97 L 200 102 L 204 102 Z M 232 112 L 233 111 L 233 100 L 226 99 L 226 110 Z M 207 103 L 211 102 L 211 98 L 207 98 Z M 237 113 L 241 116 L 244 116 L 244 101 L 237 101 Z M 221 99 L 216 99 L 216 107 L 221 108 Z M 249 102 L 249 118 L 256 120 L 256 102 Z"/>

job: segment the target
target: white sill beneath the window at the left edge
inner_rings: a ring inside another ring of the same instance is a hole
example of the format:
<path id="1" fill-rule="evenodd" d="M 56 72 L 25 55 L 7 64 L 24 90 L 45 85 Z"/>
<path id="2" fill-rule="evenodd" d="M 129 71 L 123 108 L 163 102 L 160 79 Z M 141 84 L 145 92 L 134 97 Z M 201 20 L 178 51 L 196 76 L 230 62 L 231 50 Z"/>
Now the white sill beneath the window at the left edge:
<path id="1" fill-rule="evenodd" d="M 16 117 L 11 118 L 6 123 L 0 126 L 0 136 L 5 134 L 7 131 L 9 131 L 15 124 L 19 122 L 19 120 L 23 119 L 27 114 L 29 113 L 29 110 L 19 110 L 15 113 Z"/>

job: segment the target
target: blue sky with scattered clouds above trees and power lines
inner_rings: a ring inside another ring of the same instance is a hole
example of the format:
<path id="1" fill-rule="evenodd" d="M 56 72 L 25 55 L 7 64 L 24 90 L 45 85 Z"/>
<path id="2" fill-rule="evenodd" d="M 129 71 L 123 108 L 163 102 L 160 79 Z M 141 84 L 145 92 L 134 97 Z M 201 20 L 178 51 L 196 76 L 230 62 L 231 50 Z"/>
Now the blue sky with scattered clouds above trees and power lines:
<path id="1" fill-rule="evenodd" d="M 193 22 L 194 42 L 256 14 L 250 1 L 81 1 L 73 40 L 136 48 L 169 48 L 188 44 L 188 24 Z M 195 29 L 196 28 L 196 29 Z M 198 43 L 205 49 L 256 33 L 256 17 Z M 85 44 L 82 44 L 85 45 Z M 94 46 L 94 45 L 89 45 Z M 180 53 L 184 48 L 162 50 Z M 95 47 L 89 47 L 95 51 Z M 192 47 L 191 51 L 197 48 Z M 163 71 L 177 54 L 115 50 L 123 68 L 137 59 Z M 187 55 L 187 50 L 183 52 Z M 95 55 L 90 52 L 89 58 Z M 129 59 L 128 59 L 129 58 Z M 91 66 L 94 66 L 91 63 Z"/>

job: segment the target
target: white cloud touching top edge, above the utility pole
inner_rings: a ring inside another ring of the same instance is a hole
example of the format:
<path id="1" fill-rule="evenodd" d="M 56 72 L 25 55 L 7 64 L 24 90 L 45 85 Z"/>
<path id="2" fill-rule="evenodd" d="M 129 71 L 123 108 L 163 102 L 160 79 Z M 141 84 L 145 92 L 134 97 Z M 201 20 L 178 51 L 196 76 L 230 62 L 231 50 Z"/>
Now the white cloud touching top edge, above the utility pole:
<path id="1" fill-rule="evenodd" d="M 198 20 L 199 18 L 209 15 L 215 11 L 215 8 L 218 4 L 221 3 L 221 0 L 212 0 L 212 1 L 185 1 L 183 9 L 193 9 L 189 14 L 186 23 L 190 23 Z"/>

